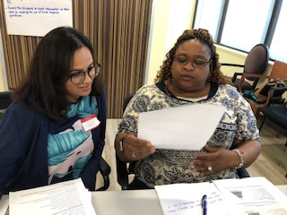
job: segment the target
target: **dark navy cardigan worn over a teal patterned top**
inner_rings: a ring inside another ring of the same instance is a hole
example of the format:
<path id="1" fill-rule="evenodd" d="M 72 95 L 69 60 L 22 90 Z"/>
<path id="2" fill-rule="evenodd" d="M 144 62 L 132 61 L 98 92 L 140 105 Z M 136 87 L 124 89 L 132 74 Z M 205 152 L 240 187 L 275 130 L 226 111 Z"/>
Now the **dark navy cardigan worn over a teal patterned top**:
<path id="1" fill-rule="evenodd" d="M 81 173 L 83 184 L 90 190 L 95 189 L 106 130 L 106 97 L 102 94 L 96 99 L 100 126 L 92 130 L 94 151 Z M 0 122 L 0 198 L 10 191 L 48 185 L 50 126 L 53 123 L 47 116 L 17 102 L 6 109 Z"/>

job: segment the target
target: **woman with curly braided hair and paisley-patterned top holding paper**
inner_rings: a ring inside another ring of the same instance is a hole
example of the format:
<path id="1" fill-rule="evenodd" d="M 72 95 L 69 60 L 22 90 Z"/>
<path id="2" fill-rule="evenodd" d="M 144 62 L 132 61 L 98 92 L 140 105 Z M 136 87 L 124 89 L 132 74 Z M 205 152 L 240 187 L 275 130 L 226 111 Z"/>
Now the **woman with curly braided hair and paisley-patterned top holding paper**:
<path id="1" fill-rule="evenodd" d="M 238 178 L 237 168 L 250 166 L 261 150 L 257 121 L 248 102 L 220 71 L 212 36 L 203 29 L 185 30 L 166 56 L 155 83 L 135 93 L 118 125 L 117 156 L 136 161 L 135 179 L 128 188 Z M 140 112 L 196 104 L 225 107 L 202 150 L 155 149 L 152 142 L 136 137 Z"/>

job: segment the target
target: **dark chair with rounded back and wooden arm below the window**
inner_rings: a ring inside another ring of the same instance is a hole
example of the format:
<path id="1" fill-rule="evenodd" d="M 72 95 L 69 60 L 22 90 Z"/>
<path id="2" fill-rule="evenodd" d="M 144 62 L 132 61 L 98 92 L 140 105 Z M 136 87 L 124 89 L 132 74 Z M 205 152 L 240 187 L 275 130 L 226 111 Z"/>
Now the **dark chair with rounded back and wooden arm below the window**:
<path id="1" fill-rule="evenodd" d="M 237 76 L 242 75 L 244 73 L 263 74 L 265 72 L 268 61 L 269 61 L 269 48 L 265 44 L 257 44 L 248 53 L 244 65 L 222 63 L 222 66 L 235 66 L 244 68 L 243 72 L 235 72 L 233 74 L 233 77 L 230 77 L 234 87 L 238 89 L 240 79 L 237 78 Z M 247 79 L 248 82 L 245 81 L 241 83 L 241 90 L 242 91 L 255 90 L 259 79 L 257 77 L 248 77 Z"/>

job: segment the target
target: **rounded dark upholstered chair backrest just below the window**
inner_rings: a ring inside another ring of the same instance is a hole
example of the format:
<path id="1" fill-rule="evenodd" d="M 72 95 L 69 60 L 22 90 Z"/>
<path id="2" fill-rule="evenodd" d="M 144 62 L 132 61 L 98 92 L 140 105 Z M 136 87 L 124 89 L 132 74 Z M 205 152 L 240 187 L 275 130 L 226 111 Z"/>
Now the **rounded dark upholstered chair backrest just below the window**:
<path id="1" fill-rule="evenodd" d="M 263 74 L 269 61 L 269 48 L 265 44 L 257 44 L 253 47 L 244 63 L 244 73 Z M 248 78 L 255 81 L 255 78 Z"/>

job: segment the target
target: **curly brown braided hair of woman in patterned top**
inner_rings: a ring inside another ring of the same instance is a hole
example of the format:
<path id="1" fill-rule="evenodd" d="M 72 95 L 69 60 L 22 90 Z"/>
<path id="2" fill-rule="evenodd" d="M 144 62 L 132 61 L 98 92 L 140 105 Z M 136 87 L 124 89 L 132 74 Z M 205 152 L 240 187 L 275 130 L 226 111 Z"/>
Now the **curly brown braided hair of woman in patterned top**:
<path id="1" fill-rule="evenodd" d="M 220 71 L 221 64 L 219 63 L 219 55 L 216 53 L 216 47 L 213 44 L 213 36 L 208 32 L 208 30 L 198 29 L 198 30 L 185 30 L 182 35 L 178 38 L 174 47 L 170 49 L 167 53 L 167 59 L 162 62 L 161 70 L 158 71 L 154 82 L 161 82 L 165 80 L 170 80 L 171 77 L 171 64 L 173 58 L 178 49 L 178 46 L 189 39 L 196 39 L 206 45 L 211 50 L 211 59 L 213 64 L 211 66 L 212 73 L 207 79 L 207 82 L 217 82 L 219 84 L 232 84 L 230 79 Z"/>

